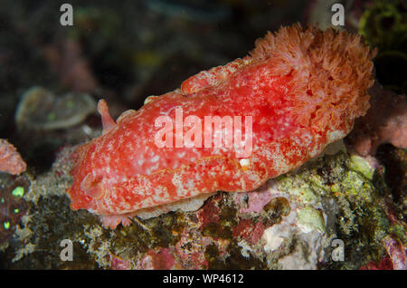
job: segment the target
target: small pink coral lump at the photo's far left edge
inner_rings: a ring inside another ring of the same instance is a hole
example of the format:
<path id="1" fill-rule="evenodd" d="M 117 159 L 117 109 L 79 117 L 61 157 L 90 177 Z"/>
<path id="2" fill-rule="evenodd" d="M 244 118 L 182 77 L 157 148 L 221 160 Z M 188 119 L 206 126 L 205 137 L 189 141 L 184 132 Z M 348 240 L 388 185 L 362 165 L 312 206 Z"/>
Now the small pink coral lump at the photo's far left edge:
<path id="1" fill-rule="evenodd" d="M 6 139 L 0 139 L 0 171 L 19 175 L 27 165 L 17 152 L 17 149 Z"/>

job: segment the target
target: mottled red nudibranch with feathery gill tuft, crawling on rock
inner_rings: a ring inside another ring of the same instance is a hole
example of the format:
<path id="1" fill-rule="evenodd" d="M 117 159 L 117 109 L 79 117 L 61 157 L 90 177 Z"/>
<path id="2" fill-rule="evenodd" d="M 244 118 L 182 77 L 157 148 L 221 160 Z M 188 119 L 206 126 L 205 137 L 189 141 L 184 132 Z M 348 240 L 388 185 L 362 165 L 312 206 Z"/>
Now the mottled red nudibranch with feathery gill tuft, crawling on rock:
<path id="1" fill-rule="evenodd" d="M 368 110 L 375 53 L 358 35 L 294 24 L 116 121 L 100 100 L 103 133 L 75 152 L 71 208 L 126 226 L 140 211 L 251 191 L 298 168 Z"/>

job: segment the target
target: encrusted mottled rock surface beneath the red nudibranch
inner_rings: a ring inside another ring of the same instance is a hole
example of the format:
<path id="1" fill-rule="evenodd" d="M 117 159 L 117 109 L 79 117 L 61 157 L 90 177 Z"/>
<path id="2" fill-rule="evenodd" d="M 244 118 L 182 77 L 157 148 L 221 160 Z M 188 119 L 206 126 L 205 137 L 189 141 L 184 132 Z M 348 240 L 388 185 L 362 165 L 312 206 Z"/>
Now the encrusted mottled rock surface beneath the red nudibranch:
<path id="1" fill-rule="evenodd" d="M 69 207 L 72 150 L 62 149 L 51 171 L 26 177 L 29 208 L 0 245 L 3 268 L 358 269 L 386 257 L 389 268 L 405 261 L 398 255 L 406 226 L 387 205 L 383 168 L 366 158 L 325 155 L 253 192 L 218 192 L 196 211 L 110 230 Z M 63 239 L 71 240 L 72 261 L 62 261 Z"/>

